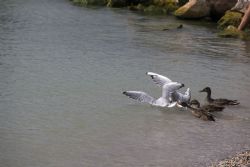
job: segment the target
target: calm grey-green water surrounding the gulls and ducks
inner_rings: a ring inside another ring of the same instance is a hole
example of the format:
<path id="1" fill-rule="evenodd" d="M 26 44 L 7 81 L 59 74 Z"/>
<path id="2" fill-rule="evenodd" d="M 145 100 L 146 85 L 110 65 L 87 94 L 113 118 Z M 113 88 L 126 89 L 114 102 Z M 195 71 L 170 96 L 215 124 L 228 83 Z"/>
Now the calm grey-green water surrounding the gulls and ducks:
<path id="1" fill-rule="evenodd" d="M 161 31 L 172 24 L 184 27 Z M 200 167 L 250 149 L 250 42 L 216 33 L 171 16 L 2 0 L 0 166 Z M 200 101 L 211 86 L 241 105 L 205 122 L 123 96 L 159 96 L 147 71 Z"/>

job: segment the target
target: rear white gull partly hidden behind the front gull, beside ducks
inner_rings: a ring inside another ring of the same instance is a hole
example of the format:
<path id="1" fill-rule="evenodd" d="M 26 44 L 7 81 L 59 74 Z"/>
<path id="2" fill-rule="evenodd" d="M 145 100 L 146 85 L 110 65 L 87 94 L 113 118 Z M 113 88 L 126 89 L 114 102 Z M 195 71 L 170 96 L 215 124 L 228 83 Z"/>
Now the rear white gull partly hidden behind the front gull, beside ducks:
<path id="1" fill-rule="evenodd" d="M 149 75 L 152 80 L 156 83 L 158 86 L 163 86 L 164 84 L 171 83 L 173 82 L 171 79 L 167 78 L 166 76 L 154 73 L 154 72 L 147 72 L 147 75 Z M 178 107 L 182 107 L 181 103 L 189 103 L 191 99 L 191 92 L 190 88 L 187 88 L 186 92 L 184 94 L 178 92 L 178 91 L 173 91 L 170 99 L 172 102 L 177 102 Z"/>

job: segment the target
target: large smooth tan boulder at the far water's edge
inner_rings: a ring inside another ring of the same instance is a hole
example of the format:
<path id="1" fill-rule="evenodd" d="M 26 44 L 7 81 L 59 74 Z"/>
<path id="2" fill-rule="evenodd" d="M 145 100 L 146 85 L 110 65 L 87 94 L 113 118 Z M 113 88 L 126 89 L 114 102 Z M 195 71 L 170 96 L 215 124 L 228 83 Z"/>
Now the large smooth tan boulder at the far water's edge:
<path id="1" fill-rule="evenodd" d="M 206 0 L 190 0 L 174 12 L 174 15 L 183 19 L 199 19 L 210 14 L 210 6 Z"/>

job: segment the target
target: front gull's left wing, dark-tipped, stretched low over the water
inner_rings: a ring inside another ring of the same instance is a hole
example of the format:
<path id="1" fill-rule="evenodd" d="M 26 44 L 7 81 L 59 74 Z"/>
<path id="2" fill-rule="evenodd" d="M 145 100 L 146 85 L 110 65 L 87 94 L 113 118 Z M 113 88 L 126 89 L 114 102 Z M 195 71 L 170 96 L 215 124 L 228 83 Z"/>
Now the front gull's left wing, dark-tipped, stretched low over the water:
<path id="1" fill-rule="evenodd" d="M 137 100 L 139 102 L 153 104 L 153 102 L 155 101 L 154 97 L 148 95 L 145 92 L 141 92 L 141 91 L 125 91 L 125 92 L 123 92 L 123 94 L 128 96 L 129 98 Z"/>

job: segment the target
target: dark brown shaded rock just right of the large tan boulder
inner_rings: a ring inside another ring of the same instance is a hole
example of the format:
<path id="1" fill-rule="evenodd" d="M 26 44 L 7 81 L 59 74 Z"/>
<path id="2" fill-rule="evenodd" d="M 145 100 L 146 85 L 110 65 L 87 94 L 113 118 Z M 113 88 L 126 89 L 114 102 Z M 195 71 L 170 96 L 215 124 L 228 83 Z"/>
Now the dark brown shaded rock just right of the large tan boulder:
<path id="1" fill-rule="evenodd" d="M 210 6 L 210 16 L 214 20 L 220 19 L 227 10 L 230 10 L 237 0 L 206 0 Z"/>

